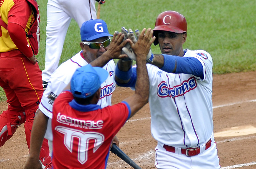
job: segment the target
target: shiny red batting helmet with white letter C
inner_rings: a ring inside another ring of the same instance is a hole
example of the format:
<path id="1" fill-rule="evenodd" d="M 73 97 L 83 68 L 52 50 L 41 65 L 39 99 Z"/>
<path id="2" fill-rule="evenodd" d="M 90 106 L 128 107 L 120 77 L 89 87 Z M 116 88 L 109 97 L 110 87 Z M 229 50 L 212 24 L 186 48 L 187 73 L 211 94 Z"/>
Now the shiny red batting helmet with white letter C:
<path id="1" fill-rule="evenodd" d="M 156 18 L 153 36 L 156 37 L 154 45 L 158 44 L 157 31 L 169 31 L 175 33 L 187 32 L 187 21 L 183 15 L 175 11 L 165 11 Z"/>

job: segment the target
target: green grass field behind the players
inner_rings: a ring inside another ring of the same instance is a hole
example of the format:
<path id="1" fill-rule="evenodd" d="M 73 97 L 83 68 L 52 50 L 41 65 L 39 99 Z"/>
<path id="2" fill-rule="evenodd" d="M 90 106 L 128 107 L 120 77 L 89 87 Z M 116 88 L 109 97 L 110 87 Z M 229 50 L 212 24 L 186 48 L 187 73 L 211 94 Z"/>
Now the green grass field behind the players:
<path id="1" fill-rule="evenodd" d="M 74 0 L 75 1 L 75 0 Z M 213 73 L 224 74 L 256 70 L 256 4 L 252 0 L 105 0 L 101 5 L 103 19 L 111 34 L 122 26 L 133 30 L 154 28 L 156 17 L 172 10 L 183 14 L 187 20 L 187 40 L 184 49 L 202 49 L 213 58 Z M 44 69 L 45 27 L 47 0 L 38 0 L 41 16 L 40 50 L 37 56 L 40 69 Z M 96 4 L 97 9 L 97 4 Z M 75 9 L 74 9 L 75 10 Z M 72 20 L 66 35 L 60 63 L 80 50 L 80 29 Z M 153 53 L 160 54 L 152 45 Z M 0 91 L 0 100 L 5 94 Z"/>

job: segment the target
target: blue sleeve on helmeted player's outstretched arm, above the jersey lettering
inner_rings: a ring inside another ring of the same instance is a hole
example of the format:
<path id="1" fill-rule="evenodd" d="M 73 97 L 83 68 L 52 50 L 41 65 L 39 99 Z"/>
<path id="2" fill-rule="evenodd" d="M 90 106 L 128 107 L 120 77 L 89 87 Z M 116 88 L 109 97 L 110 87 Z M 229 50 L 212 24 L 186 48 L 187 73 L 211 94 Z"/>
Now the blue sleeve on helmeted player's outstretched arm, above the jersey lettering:
<path id="1" fill-rule="evenodd" d="M 164 64 L 160 68 L 168 73 L 173 72 L 176 62 L 176 71 L 174 73 L 191 74 L 203 79 L 203 66 L 201 62 L 194 57 L 180 57 L 163 54 Z"/>

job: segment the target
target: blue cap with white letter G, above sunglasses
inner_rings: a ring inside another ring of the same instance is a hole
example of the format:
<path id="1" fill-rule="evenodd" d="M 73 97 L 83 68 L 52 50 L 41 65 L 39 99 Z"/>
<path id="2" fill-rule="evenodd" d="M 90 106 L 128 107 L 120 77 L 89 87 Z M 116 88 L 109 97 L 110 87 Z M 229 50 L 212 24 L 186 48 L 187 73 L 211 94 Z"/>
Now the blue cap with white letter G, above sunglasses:
<path id="1" fill-rule="evenodd" d="M 106 22 L 101 19 L 85 21 L 80 28 L 80 35 L 82 41 L 90 41 L 104 36 L 113 36 L 109 34 Z"/>

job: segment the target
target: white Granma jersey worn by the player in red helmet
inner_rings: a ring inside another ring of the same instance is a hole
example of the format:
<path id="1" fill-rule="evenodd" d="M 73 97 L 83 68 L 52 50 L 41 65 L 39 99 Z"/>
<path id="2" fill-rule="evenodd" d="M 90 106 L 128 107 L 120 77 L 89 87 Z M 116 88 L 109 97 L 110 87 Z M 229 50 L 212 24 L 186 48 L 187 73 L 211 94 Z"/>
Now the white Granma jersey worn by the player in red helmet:
<path id="1" fill-rule="evenodd" d="M 213 133 L 212 58 L 203 50 L 187 50 L 183 57 L 188 56 L 201 62 L 203 79 L 147 64 L 152 136 L 180 148 L 203 144 Z"/>

